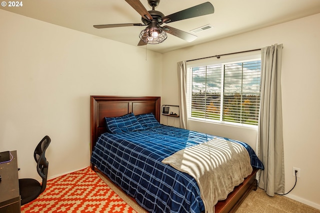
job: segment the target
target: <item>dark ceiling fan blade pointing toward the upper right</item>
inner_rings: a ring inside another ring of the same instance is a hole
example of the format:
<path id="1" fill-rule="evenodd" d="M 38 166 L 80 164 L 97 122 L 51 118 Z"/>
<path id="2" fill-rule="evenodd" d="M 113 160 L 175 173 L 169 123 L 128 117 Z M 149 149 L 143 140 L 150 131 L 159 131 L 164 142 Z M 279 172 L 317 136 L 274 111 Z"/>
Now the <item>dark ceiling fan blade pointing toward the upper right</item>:
<path id="1" fill-rule="evenodd" d="M 214 12 L 214 7 L 210 2 L 204 2 L 196 6 L 172 13 L 162 17 L 164 23 L 193 18 L 201 15 L 207 15 Z"/>

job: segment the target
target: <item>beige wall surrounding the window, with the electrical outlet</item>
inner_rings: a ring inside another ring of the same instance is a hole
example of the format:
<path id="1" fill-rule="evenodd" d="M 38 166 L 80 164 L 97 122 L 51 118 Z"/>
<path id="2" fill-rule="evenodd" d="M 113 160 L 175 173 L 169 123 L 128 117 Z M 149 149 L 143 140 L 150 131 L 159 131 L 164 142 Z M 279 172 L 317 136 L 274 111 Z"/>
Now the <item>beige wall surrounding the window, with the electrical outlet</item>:
<path id="1" fill-rule="evenodd" d="M 282 110 L 286 192 L 292 167 L 301 169 L 287 196 L 320 209 L 320 14 L 163 54 L 162 104 L 177 104 L 176 62 L 283 43 Z M 214 28 L 212 29 L 214 30 Z M 168 76 L 171 76 L 168 78 Z M 165 85 L 165 86 L 164 86 Z M 255 147 L 256 130 L 189 122 L 192 130 L 244 141 Z"/>

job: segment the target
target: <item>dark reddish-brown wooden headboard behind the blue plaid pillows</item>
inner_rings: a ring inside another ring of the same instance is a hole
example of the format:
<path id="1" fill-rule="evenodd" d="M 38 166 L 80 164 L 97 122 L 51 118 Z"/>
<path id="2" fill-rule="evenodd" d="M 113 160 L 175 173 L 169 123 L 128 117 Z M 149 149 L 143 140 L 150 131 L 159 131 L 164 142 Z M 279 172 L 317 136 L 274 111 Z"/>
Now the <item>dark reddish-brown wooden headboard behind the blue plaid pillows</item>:
<path id="1" fill-rule="evenodd" d="M 104 117 L 152 112 L 160 122 L 160 97 L 90 96 L 90 154 L 98 137 L 106 132 Z"/>

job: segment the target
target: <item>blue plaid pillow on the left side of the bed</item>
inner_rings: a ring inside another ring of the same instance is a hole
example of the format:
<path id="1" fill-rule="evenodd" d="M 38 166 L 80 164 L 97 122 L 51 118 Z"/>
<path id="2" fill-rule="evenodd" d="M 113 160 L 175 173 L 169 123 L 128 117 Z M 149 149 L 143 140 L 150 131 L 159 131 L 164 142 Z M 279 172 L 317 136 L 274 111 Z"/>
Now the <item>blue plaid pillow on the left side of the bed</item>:
<path id="1" fill-rule="evenodd" d="M 133 113 L 120 117 L 105 117 L 106 127 L 110 133 L 122 133 L 134 130 L 143 130 Z"/>

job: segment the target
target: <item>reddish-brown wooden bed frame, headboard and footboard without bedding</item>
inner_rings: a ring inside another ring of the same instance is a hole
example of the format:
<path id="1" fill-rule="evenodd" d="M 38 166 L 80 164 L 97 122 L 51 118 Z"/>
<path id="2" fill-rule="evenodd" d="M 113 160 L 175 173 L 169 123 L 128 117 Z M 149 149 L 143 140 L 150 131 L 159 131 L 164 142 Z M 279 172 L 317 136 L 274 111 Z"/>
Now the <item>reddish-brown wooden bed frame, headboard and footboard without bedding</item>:
<path id="1" fill-rule="evenodd" d="M 90 96 L 90 154 L 97 138 L 106 132 L 104 117 L 118 117 L 131 112 L 134 115 L 152 112 L 156 120 L 160 122 L 160 97 Z M 92 164 L 91 168 L 103 175 Z M 235 212 L 250 191 L 256 190 L 256 172 L 257 169 L 253 169 L 252 174 L 242 184 L 235 187 L 226 200 L 219 201 L 214 207 L 215 213 Z"/>

